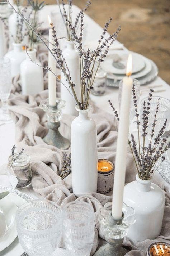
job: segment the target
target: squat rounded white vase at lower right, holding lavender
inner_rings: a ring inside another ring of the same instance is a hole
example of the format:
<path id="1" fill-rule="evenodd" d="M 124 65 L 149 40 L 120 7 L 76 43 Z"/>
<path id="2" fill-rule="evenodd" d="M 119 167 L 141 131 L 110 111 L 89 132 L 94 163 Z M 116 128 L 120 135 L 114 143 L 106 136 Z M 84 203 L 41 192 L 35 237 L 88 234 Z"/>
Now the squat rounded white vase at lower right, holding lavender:
<path id="1" fill-rule="evenodd" d="M 165 207 L 164 192 L 151 180 L 136 181 L 124 187 L 123 202 L 135 210 L 136 223 L 129 227 L 127 237 L 138 242 L 155 239 L 161 232 Z"/>

